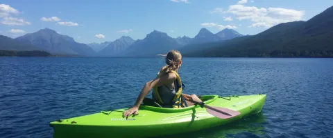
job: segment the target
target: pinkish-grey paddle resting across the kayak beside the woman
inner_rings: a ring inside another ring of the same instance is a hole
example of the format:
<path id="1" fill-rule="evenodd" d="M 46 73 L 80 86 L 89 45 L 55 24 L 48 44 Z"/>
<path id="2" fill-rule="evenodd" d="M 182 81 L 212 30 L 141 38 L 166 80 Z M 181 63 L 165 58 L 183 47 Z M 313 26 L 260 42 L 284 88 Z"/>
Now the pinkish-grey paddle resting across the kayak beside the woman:
<path id="1" fill-rule="evenodd" d="M 201 108 L 205 107 L 207 112 L 210 113 L 210 115 L 219 117 L 220 119 L 228 119 L 231 117 L 236 117 L 237 115 L 241 114 L 241 112 L 238 112 L 235 110 L 230 110 L 228 108 L 207 106 L 207 105 L 205 105 L 204 102 L 199 103 L 198 101 L 193 101 L 192 99 L 187 99 L 187 101 L 198 104 L 198 105 L 200 105 Z"/>

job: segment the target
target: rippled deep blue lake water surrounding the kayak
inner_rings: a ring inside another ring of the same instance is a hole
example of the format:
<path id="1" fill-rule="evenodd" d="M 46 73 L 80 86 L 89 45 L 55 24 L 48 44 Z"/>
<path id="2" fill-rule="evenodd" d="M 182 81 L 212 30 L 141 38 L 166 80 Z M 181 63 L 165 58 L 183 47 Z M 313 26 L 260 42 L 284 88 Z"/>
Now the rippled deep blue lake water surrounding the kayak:
<path id="1" fill-rule="evenodd" d="M 0 58 L 0 137 L 52 137 L 50 121 L 131 106 L 160 58 Z M 332 137 L 333 59 L 185 58 L 185 93 L 267 95 L 262 113 L 174 137 Z"/>

